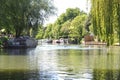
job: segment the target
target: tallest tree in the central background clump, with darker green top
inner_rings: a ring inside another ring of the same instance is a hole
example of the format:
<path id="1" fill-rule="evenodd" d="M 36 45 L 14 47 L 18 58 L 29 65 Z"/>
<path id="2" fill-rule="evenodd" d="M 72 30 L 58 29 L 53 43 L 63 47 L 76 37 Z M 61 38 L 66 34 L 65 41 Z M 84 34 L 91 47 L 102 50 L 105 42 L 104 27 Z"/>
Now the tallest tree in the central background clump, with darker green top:
<path id="1" fill-rule="evenodd" d="M 68 37 L 70 31 L 70 25 L 72 20 L 79 15 L 83 15 L 85 12 L 80 11 L 79 8 L 68 8 L 66 12 L 61 14 L 59 18 L 56 20 L 55 24 L 57 25 L 57 35 L 59 37 Z"/>

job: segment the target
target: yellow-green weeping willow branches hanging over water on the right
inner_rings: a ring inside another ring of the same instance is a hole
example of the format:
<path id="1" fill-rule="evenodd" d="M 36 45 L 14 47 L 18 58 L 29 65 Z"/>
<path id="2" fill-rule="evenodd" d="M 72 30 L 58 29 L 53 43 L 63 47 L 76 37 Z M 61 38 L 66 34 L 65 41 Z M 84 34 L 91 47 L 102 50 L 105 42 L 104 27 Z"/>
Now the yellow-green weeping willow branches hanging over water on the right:
<path id="1" fill-rule="evenodd" d="M 120 1 L 91 0 L 91 4 L 94 34 L 109 46 L 117 33 L 120 42 Z"/>

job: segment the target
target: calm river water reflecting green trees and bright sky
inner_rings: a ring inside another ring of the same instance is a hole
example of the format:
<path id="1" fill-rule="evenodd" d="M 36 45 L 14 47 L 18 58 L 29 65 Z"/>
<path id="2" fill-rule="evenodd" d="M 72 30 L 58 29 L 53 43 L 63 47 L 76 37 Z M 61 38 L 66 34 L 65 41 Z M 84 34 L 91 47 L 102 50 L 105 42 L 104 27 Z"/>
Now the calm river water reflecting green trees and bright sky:
<path id="1" fill-rule="evenodd" d="M 120 47 L 41 44 L 1 49 L 0 80 L 120 80 Z"/>

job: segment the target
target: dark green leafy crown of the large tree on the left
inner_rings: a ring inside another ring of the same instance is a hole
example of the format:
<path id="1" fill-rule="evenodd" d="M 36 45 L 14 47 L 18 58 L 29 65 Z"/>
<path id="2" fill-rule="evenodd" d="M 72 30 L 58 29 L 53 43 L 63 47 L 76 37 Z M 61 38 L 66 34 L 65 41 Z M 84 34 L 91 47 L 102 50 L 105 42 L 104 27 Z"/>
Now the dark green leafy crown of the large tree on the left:
<path id="1" fill-rule="evenodd" d="M 38 25 L 55 10 L 52 0 L 0 0 L 0 6 L 0 24 L 11 27 L 16 37 L 37 32 Z"/>

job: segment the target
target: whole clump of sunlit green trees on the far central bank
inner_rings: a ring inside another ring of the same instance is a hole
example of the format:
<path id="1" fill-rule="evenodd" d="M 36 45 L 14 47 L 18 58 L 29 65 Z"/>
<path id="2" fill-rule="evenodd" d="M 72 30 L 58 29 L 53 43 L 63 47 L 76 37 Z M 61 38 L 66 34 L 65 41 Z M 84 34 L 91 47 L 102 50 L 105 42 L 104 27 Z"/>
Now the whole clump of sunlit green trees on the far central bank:
<path id="1" fill-rule="evenodd" d="M 68 8 L 61 14 L 54 24 L 48 24 L 43 38 L 71 38 L 80 43 L 85 32 L 87 14 L 79 8 Z M 38 33 L 41 35 L 41 33 Z"/>

